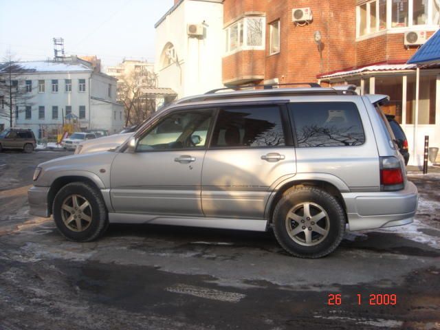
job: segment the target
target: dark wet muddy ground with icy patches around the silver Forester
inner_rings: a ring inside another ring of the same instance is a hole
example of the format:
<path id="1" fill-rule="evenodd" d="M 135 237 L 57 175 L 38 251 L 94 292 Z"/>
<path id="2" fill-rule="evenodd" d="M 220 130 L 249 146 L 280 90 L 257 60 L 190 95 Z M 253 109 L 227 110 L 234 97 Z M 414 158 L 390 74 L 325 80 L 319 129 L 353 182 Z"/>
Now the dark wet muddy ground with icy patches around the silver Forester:
<path id="1" fill-rule="evenodd" d="M 439 174 L 410 175 L 415 223 L 307 260 L 271 232 L 111 225 L 65 241 L 26 198 L 34 167 L 63 155 L 0 153 L 0 329 L 440 329 Z"/>

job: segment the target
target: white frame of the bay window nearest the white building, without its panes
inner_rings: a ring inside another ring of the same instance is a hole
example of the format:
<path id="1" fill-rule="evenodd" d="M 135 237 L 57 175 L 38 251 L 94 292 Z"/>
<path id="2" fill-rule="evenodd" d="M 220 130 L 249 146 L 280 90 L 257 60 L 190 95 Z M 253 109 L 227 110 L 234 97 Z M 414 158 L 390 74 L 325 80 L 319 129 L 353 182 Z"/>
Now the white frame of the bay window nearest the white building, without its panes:
<path id="1" fill-rule="evenodd" d="M 250 46 L 248 45 L 248 24 L 247 20 L 249 19 L 261 19 L 261 45 Z M 236 39 L 236 48 L 231 50 L 230 47 L 230 30 L 232 27 L 237 25 L 237 39 Z M 241 30 L 243 30 L 243 41 L 241 41 Z M 265 50 L 265 36 L 266 36 L 266 18 L 264 16 L 255 16 L 255 17 L 243 17 L 238 21 L 234 21 L 224 29 L 225 31 L 225 56 L 230 54 L 234 54 L 236 52 L 241 52 L 242 50 Z"/>

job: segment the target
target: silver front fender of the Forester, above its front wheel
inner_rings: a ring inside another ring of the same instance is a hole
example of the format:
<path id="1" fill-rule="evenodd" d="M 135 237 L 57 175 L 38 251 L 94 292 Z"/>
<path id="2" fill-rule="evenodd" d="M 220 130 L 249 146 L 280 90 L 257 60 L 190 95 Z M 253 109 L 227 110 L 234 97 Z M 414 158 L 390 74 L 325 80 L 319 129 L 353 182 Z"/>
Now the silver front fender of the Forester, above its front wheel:
<path id="1" fill-rule="evenodd" d="M 86 155 L 70 155 L 52 159 L 39 164 L 41 174 L 35 186 L 51 186 L 58 177 L 78 176 L 86 177 L 95 182 L 98 188 L 110 186 L 110 169 L 117 153 L 103 151 Z"/>

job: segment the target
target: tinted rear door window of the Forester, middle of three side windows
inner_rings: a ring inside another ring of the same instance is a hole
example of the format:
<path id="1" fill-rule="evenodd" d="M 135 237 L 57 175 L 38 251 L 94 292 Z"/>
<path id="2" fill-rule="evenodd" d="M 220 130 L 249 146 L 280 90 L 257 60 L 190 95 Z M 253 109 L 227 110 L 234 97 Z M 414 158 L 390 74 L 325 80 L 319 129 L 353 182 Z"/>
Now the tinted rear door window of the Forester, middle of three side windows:
<path id="1" fill-rule="evenodd" d="M 285 146 L 280 108 L 272 106 L 220 109 L 211 147 Z"/>

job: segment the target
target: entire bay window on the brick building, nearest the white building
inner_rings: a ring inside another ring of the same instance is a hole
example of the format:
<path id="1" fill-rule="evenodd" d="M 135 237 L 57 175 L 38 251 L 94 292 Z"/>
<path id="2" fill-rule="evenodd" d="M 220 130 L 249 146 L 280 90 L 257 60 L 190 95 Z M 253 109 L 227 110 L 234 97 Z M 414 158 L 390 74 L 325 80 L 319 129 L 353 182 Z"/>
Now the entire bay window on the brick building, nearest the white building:
<path id="1" fill-rule="evenodd" d="M 225 28 L 226 52 L 264 50 L 265 18 L 245 17 Z"/>

